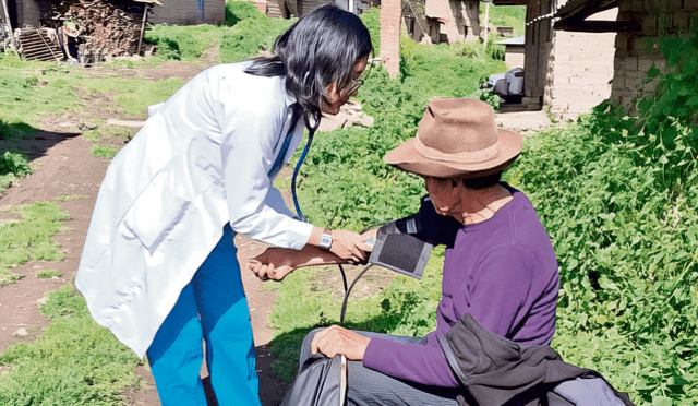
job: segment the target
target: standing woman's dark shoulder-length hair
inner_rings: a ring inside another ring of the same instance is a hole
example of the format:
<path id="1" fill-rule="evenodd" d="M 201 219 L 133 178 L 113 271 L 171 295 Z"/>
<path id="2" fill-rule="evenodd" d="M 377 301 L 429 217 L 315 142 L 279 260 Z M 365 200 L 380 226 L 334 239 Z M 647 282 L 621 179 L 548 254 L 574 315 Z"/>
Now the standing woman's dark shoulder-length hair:
<path id="1" fill-rule="evenodd" d="M 302 107 L 305 122 L 320 122 L 322 95 L 337 81 L 346 88 L 354 64 L 373 52 L 371 35 L 357 15 L 324 4 L 298 20 L 276 38 L 274 56 L 256 58 L 246 73 L 286 76 L 286 91 Z"/>

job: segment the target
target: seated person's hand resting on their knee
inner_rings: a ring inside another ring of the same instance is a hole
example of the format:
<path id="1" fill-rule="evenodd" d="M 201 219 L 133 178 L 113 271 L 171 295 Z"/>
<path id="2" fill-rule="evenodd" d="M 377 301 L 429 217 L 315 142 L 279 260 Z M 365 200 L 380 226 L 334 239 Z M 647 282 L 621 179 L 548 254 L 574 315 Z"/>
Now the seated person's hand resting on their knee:
<path id="1" fill-rule="evenodd" d="M 313 355 L 320 351 L 328 358 L 334 358 L 341 354 L 352 361 L 362 361 L 370 342 L 371 338 L 359 333 L 332 325 L 315 333 L 310 348 Z"/>

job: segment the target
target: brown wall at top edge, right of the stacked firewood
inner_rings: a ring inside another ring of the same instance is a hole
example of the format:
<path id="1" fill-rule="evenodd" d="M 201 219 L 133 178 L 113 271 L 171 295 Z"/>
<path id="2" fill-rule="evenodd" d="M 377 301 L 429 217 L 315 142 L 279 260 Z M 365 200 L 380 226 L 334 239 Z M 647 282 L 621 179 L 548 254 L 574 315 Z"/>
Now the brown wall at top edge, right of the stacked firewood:
<path id="1" fill-rule="evenodd" d="M 151 9 L 148 23 L 193 25 L 218 24 L 226 20 L 226 0 L 167 0 L 163 3 L 165 5 Z"/>

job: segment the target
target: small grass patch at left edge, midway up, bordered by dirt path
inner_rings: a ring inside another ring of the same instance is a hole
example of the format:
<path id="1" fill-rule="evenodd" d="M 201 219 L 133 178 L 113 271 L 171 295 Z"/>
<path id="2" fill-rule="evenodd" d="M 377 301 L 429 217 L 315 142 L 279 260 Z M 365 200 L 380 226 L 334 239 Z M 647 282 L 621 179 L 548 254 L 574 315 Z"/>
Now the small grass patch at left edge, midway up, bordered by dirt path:
<path id="1" fill-rule="evenodd" d="M 69 218 L 55 203 L 37 202 L 10 211 L 22 218 L 0 224 L 0 286 L 17 279 L 11 271 L 14 266 L 61 260 L 63 254 L 51 237 L 61 230 L 61 220 Z"/>

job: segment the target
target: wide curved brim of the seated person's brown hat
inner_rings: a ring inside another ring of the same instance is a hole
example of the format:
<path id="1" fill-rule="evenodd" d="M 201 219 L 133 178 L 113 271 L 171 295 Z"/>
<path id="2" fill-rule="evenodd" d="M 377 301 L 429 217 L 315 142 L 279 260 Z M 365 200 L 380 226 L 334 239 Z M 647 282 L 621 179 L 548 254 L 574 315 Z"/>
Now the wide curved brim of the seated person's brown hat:
<path id="1" fill-rule="evenodd" d="M 496 174 L 512 165 L 521 153 L 524 138 L 514 131 L 497 130 L 496 157 L 480 163 L 435 160 L 424 157 L 414 147 L 414 139 L 407 141 L 385 155 L 385 163 L 398 169 L 434 178 L 479 178 Z"/>

